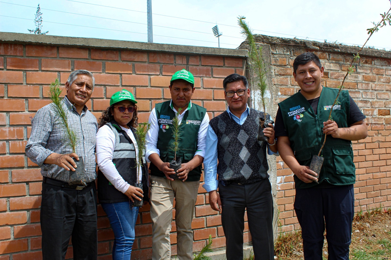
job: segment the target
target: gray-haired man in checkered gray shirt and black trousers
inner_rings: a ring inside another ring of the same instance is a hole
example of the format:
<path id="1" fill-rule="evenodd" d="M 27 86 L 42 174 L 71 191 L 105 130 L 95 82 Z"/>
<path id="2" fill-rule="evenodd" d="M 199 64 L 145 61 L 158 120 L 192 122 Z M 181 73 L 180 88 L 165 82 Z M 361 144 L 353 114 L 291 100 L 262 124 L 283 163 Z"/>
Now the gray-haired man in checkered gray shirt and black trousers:
<path id="1" fill-rule="evenodd" d="M 97 259 L 97 198 L 95 187 L 95 143 L 97 120 L 86 103 L 95 79 L 90 71 L 76 70 L 65 83 L 62 105 L 72 126 L 77 146 L 74 153 L 65 140 L 53 104 L 38 110 L 31 122 L 26 155 L 41 167 L 42 255 L 44 260 L 65 259 L 70 237 L 74 259 Z M 86 185 L 70 185 L 74 160 L 83 157 Z"/>

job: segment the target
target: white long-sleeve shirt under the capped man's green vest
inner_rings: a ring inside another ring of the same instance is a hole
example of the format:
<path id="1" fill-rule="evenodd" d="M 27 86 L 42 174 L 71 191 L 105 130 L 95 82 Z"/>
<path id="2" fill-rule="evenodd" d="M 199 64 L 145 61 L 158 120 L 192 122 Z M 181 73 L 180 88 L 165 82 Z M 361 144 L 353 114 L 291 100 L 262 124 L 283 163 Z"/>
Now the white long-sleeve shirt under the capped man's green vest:
<path id="1" fill-rule="evenodd" d="M 172 100 L 171 100 L 172 103 Z M 175 108 L 171 106 L 172 110 L 174 110 L 175 114 L 178 112 L 176 111 Z M 190 101 L 190 108 L 192 106 L 192 103 Z M 179 115 L 179 121 L 181 122 L 183 119 L 183 116 L 185 116 L 186 111 L 188 108 L 183 111 L 182 114 Z M 157 153 L 160 156 L 160 151 L 157 148 L 157 143 L 158 143 L 158 136 L 159 136 L 159 124 L 158 124 L 158 118 L 156 116 L 156 109 L 152 109 L 151 114 L 149 115 L 149 123 L 151 123 L 151 129 L 148 131 L 147 134 L 147 142 L 145 145 L 145 160 L 147 162 L 151 162 L 149 160 L 149 155 L 152 153 Z M 199 155 L 202 156 L 203 158 L 205 157 L 205 150 L 206 150 L 206 132 L 208 130 L 208 125 L 209 125 L 209 116 L 208 113 L 205 113 L 204 119 L 201 122 L 201 125 L 199 127 L 198 131 L 198 136 L 197 136 L 197 151 L 195 152 L 194 155 Z"/>

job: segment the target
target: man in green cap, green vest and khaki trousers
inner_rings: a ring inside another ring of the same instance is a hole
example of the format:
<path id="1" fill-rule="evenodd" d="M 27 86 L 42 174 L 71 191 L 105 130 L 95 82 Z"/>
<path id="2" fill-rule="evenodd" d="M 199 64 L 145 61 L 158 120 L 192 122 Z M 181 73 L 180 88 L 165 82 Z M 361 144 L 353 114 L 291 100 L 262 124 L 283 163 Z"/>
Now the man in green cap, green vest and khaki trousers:
<path id="1" fill-rule="evenodd" d="M 151 219 L 152 260 L 166 260 L 171 257 L 170 231 L 172 207 L 175 197 L 175 223 L 179 260 L 191 260 L 193 253 L 192 219 L 197 199 L 201 163 L 205 156 L 206 130 L 209 117 L 206 109 L 191 102 L 194 93 L 194 77 L 185 69 L 172 75 L 170 81 L 171 100 L 156 104 L 149 116 L 151 130 L 147 134 L 145 158 L 151 162 Z M 172 119 L 179 113 L 179 150 L 182 167 L 178 170 L 179 180 L 170 177 L 174 169 L 171 149 Z"/>

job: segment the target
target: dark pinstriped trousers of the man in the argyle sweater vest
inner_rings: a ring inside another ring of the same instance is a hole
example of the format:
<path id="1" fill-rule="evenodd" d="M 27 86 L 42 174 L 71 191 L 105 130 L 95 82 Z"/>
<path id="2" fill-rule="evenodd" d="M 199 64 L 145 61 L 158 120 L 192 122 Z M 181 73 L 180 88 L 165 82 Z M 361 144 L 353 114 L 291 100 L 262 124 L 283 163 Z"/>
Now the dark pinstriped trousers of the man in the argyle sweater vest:
<path id="1" fill-rule="evenodd" d="M 269 179 L 252 184 L 219 184 L 227 260 L 243 259 L 244 211 L 256 260 L 273 260 L 273 199 Z"/>

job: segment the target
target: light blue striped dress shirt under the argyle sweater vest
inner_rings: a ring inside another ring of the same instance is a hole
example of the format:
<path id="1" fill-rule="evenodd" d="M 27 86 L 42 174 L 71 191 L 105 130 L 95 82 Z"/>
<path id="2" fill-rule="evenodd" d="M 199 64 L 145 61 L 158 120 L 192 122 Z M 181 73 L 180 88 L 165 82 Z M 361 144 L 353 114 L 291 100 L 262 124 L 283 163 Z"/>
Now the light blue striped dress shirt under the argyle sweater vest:
<path id="1" fill-rule="evenodd" d="M 247 105 L 246 110 L 242 113 L 240 118 L 231 113 L 230 107 L 228 106 L 227 112 L 230 117 L 239 125 L 243 125 L 246 121 L 247 116 L 250 114 L 250 108 Z M 269 145 L 267 145 L 267 153 L 269 155 L 278 156 L 278 152 L 274 153 L 270 150 Z M 208 126 L 208 132 L 206 133 L 206 151 L 204 158 L 204 179 L 205 184 L 202 187 L 207 191 L 215 191 L 219 185 L 217 180 L 217 135 L 213 131 L 212 127 Z"/>

